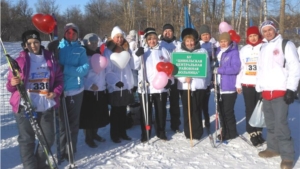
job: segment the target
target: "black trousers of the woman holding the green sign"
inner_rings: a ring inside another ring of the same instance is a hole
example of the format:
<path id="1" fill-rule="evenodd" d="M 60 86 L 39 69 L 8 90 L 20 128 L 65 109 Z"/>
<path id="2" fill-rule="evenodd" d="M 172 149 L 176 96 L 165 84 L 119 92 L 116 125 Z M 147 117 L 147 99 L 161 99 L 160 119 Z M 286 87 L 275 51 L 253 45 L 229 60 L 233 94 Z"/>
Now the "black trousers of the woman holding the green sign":
<path id="1" fill-rule="evenodd" d="M 202 105 L 205 89 L 190 91 L 190 105 L 188 105 L 188 91 L 180 90 L 181 102 L 183 106 L 183 124 L 184 124 L 184 134 L 187 138 L 190 138 L 190 128 L 189 128 L 189 116 L 188 116 L 188 106 L 190 106 L 191 113 L 191 123 L 192 123 L 192 135 L 194 139 L 200 139 L 203 134 L 202 125 Z"/>

